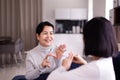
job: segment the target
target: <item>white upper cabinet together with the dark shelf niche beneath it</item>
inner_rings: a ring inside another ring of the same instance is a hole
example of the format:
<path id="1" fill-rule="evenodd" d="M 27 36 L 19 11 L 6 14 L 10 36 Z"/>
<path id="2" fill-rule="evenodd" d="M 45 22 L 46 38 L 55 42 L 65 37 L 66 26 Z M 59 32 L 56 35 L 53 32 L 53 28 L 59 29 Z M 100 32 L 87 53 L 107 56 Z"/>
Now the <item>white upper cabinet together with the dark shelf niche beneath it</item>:
<path id="1" fill-rule="evenodd" d="M 55 33 L 79 34 L 87 21 L 86 8 L 63 8 L 55 10 Z"/>

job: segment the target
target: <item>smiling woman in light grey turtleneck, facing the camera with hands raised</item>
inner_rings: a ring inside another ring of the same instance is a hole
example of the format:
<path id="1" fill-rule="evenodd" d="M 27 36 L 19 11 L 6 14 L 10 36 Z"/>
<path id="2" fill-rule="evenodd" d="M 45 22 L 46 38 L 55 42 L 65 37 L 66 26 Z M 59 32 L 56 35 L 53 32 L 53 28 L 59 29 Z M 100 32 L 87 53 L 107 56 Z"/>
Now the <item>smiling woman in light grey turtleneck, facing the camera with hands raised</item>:
<path id="1" fill-rule="evenodd" d="M 61 54 L 66 49 L 64 44 L 59 47 L 53 45 L 54 26 L 49 22 L 41 22 L 37 26 L 36 36 L 38 46 L 27 52 L 25 75 L 27 80 L 36 79 L 41 74 L 50 73 L 57 68 L 62 59 Z"/>

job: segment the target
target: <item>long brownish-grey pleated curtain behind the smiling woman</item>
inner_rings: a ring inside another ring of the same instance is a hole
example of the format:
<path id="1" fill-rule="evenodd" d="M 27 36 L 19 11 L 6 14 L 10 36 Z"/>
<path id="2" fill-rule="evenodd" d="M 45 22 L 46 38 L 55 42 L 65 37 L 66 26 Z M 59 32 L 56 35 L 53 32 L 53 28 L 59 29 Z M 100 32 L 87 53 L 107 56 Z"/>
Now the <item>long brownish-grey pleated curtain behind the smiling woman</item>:
<path id="1" fill-rule="evenodd" d="M 25 50 L 36 46 L 36 26 L 42 19 L 42 0 L 0 0 L 0 36 L 21 38 Z"/>

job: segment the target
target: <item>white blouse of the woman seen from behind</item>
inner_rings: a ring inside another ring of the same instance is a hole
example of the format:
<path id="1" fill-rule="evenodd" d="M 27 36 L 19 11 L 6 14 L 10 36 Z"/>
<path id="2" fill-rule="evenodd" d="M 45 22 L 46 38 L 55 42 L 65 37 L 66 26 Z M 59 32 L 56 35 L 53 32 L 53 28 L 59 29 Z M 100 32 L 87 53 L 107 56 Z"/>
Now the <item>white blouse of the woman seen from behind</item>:
<path id="1" fill-rule="evenodd" d="M 115 80 L 112 58 L 101 58 L 70 71 L 61 66 L 47 80 Z"/>

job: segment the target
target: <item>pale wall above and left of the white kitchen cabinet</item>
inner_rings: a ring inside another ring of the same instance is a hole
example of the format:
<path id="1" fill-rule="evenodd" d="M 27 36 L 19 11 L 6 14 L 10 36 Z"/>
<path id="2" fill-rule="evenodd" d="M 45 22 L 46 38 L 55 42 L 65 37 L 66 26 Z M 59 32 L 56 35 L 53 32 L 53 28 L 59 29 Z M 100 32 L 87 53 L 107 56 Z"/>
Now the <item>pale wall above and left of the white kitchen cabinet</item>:
<path id="1" fill-rule="evenodd" d="M 88 0 L 43 0 L 42 20 L 55 24 L 56 8 L 88 8 Z"/>

